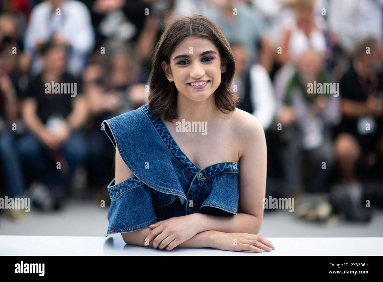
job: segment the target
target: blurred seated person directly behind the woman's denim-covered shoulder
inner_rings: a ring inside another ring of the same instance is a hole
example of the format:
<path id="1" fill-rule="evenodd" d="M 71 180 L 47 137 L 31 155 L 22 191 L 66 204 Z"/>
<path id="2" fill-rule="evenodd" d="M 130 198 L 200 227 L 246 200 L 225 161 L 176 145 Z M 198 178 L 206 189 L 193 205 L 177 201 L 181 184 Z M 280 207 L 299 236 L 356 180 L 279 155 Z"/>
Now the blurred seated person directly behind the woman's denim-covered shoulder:
<path id="1" fill-rule="evenodd" d="M 97 200 L 109 201 L 105 186 L 113 178 L 113 148 L 110 148 L 101 123 L 117 114 L 146 104 L 145 85 L 139 82 L 133 46 L 120 40 L 103 43 L 107 52 L 85 68 L 84 90 L 90 109 L 87 122 L 89 158 L 88 186 Z M 100 130 L 101 129 L 101 130 Z M 97 140 L 97 142 L 95 142 Z"/>

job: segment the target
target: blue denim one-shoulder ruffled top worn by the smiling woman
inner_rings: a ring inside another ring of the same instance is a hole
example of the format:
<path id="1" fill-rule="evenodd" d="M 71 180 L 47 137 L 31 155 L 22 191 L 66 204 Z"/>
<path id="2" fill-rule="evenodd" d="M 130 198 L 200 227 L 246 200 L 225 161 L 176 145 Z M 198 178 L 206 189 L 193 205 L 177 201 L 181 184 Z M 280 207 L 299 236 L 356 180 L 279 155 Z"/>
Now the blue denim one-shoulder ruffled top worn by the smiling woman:
<path id="1" fill-rule="evenodd" d="M 239 162 L 199 168 L 180 150 L 148 104 L 103 121 L 134 176 L 108 185 L 108 232 L 126 233 L 192 213 L 237 214 Z"/>

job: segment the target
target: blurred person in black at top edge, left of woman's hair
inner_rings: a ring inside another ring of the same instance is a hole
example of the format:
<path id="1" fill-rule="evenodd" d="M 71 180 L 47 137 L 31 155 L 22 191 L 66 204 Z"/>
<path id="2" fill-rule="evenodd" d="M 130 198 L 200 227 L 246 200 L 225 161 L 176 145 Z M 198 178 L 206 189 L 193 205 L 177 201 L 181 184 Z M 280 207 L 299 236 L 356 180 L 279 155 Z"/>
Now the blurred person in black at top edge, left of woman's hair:
<path id="1" fill-rule="evenodd" d="M 139 81 L 149 78 L 152 47 L 159 39 L 161 22 L 171 7 L 172 1 L 151 0 L 85 0 L 91 12 L 92 23 L 96 34 L 94 53 L 100 53 L 109 41 L 125 42 L 133 45 L 134 59 L 142 68 Z M 146 9 L 147 13 L 146 13 Z"/>

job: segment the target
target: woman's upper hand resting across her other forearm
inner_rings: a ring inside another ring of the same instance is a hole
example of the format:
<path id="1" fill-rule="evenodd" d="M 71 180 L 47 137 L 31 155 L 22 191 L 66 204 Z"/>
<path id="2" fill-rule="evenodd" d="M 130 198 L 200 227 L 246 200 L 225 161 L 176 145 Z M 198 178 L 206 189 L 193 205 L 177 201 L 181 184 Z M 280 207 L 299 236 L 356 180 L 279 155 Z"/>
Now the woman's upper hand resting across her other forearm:
<path id="1" fill-rule="evenodd" d="M 153 247 L 159 249 L 166 247 L 167 251 L 174 249 L 201 232 L 198 214 L 165 219 L 151 224 L 149 227 L 154 228 L 147 237 L 149 242 L 154 238 Z"/>

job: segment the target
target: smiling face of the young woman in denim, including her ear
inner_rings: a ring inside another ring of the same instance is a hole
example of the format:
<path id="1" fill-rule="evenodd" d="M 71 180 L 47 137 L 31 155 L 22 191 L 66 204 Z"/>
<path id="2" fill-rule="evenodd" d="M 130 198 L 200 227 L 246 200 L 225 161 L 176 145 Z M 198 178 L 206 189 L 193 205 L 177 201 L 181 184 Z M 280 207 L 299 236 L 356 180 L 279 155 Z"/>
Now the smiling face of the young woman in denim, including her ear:
<path id="1" fill-rule="evenodd" d="M 221 57 L 208 39 L 188 36 L 170 55 L 169 65 L 161 64 L 166 76 L 175 83 L 179 94 L 193 101 L 203 101 L 216 91 L 221 83 Z M 200 85 L 202 84 L 202 85 Z"/>

